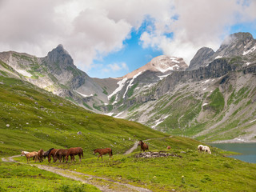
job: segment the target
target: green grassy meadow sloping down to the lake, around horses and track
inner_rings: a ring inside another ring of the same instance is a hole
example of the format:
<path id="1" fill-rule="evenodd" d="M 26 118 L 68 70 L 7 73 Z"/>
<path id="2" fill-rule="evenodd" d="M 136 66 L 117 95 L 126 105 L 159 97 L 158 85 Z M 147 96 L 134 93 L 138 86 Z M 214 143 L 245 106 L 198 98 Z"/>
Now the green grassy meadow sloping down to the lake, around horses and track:
<path id="1" fill-rule="evenodd" d="M 48 150 L 81 146 L 82 162 L 36 164 L 58 166 L 84 174 L 142 186 L 153 191 L 255 191 L 256 165 L 225 155 L 210 147 L 212 154 L 197 151 L 198 142 L 170 137 L 137 122 L 94 114 L 80 106 L 41 90 L 28 82 L 0 76 L 0 157 L 22 150 Z M 81 134 L 78 134 L 78 132 Z M 135 158 L 124 152 L 138 140 L 146 140 L 150 151 L 166 150 L 178 157 Z M 95 148 L 111 147 L 114 159 L 103 161 L 92 154 Z M 78 157 L 76 157 L 78 160 Z M 21 163 L 0 162 L 0 191 L 98 191 L 57 174 Z"/>

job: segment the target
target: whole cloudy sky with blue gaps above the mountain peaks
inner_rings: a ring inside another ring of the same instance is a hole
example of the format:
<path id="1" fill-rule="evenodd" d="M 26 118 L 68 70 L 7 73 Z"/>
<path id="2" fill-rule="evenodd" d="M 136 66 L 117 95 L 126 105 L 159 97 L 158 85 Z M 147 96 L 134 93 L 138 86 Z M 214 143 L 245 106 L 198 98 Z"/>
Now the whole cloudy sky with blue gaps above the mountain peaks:
<path id="1" fill-rule="evenodd" d="M 255 0 L 0 1 L 0 51 L 45 57 L 59 44 L 92 78 L 118 78 L 158 55 L 189 64 L 235 32 L 256 37 Z"/>

